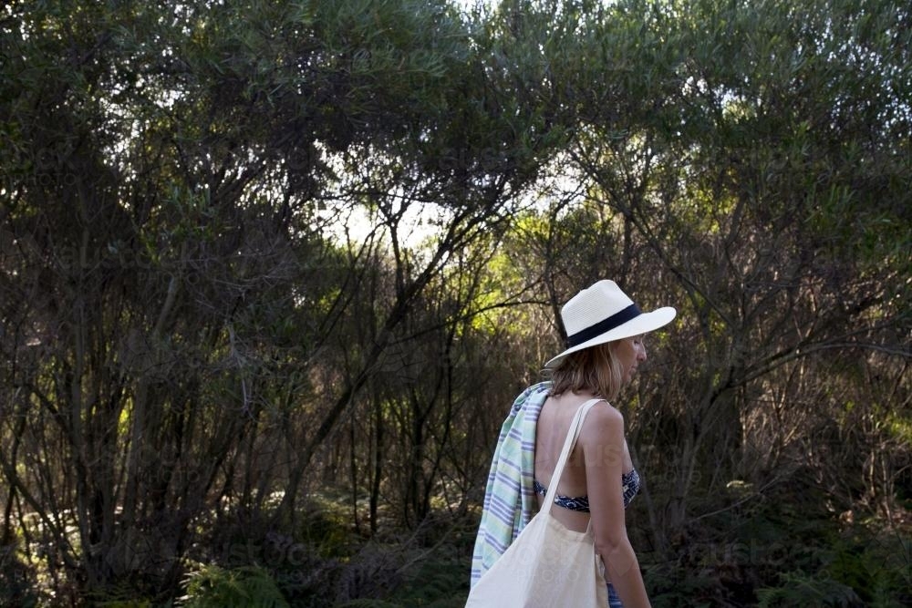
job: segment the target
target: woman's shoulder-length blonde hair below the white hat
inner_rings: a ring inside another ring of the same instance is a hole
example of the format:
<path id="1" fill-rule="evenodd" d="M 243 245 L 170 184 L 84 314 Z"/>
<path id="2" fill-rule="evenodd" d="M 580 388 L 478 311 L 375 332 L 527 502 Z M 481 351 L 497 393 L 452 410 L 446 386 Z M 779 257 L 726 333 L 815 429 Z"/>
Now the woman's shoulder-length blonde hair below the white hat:
<path id="1" fill-rule="evenodd" d="M 565 356 L 546 376 L 552 381 L 550 395 L 567 391 L 589 392 L 608 401 L 617 397 L 624 383 L 624 370 L 615 356 L 619 340 L 590 346 Z"/>

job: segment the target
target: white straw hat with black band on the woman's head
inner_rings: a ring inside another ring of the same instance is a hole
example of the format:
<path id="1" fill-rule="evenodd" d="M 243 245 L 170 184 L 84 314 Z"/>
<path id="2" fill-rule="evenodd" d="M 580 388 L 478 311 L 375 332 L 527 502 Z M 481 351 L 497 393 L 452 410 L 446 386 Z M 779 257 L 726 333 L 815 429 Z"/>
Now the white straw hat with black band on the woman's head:
<path id="1" fill-rule="evenodd" d="M 651 313 L 640 312 L 637 304 L 614 281 L 599 281 L 573 296 L 561 308 L 567 332 L 567 349 L 544 364 L 557 366 L 564 357 L 595 346 L 640 335 L 668 325 L 677 311 L 671 306 Z"/>

